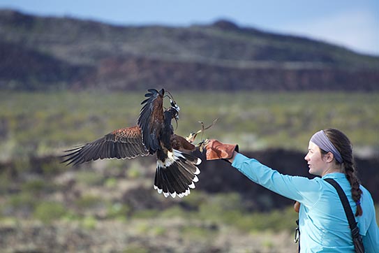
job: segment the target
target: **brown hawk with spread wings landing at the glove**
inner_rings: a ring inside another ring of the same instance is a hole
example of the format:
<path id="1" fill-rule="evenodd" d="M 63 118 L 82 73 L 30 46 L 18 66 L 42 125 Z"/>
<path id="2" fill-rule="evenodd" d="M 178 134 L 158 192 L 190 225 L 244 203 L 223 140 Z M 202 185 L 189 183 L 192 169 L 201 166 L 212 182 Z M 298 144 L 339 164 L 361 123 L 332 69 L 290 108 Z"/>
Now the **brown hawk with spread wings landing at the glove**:
<path id="1" fill-rule="evenodd" d="M 196 146 L 174 133 L 172 120 L 179 119 L 179 106 L 170 92 L 148 89 L 142 101 L 138 124 L 108 133 L 102 138 L 75 147 L 67 152 L 63 163 L 82 164 L 97 159 L 131 159 L 156 154 L 154 189 L 168 196 L 187 196 L 195 188 L 201 159 L 191 152 Z M 163 99 L 170 98 L 170 108 L 163 108 Z"/>

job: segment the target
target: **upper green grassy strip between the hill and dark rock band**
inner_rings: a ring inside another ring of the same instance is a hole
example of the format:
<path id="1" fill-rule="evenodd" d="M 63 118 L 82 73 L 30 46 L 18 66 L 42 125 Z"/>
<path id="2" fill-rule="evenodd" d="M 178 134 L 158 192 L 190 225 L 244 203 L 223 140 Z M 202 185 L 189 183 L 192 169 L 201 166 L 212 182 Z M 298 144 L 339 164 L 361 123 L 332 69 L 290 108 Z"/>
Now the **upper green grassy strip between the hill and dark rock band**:
<path id="1" fill-rule="evenodd" d="M 1 92 L 1 159 L 57 152 L 114 129 L 133 126 L 143 94 Z M 376 93 L 179 92 L 173 95 L 181 107 L 176 132 L 184 136 L 200 129 L 198 121 L 210 124 L 218 118 L 204 138 L 239 143 L 242 150 L 285 147 L 305 151 L 310 136 L 328 127 L 344 131 L 357 151 L 379 147 L 379 94 Z"/>

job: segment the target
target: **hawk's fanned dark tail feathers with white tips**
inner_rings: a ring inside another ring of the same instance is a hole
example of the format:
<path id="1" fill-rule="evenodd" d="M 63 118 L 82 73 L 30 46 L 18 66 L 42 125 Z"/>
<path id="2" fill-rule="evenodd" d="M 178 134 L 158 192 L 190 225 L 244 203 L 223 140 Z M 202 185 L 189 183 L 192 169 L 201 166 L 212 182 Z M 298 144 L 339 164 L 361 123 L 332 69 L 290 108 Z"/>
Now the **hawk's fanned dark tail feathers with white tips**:
<path id="1" fill-rule="evenodd" d="M 197 165 L 201 159 L 193 157 L 191 154 L 172 150 L 168 152 L 165 161 L 158 159 L 156 166 L 156 175 L 154 180 L 154 189 L 167 198 L 168 196 L 187 196 L 190 189 L 195 188 L 195 182 L 198 182 L 200 173 Z"/>

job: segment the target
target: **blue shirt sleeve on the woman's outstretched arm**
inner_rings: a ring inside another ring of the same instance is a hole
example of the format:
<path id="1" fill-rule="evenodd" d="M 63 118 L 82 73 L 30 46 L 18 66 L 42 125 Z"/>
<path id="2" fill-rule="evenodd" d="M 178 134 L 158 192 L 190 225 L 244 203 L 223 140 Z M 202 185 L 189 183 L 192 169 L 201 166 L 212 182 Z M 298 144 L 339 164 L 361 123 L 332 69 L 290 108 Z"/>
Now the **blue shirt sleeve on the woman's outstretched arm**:
<path id="1" fill-rule="evenodd" d="M 237 154 L 232 166 L 247 178 L 267 189 L 308 206 L 313 206 L 320 198 L 321 184 L 319 178 L 283 175 L 255 159 Z"/>

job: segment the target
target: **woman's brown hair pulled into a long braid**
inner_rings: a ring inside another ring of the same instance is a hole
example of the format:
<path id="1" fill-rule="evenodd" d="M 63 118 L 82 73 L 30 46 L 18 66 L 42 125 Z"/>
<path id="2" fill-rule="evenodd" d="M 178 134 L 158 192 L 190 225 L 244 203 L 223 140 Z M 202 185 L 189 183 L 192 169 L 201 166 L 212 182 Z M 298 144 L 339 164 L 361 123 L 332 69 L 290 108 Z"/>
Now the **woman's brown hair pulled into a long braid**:
<path id="1" fill-rule="evenodd" d="M 334 147 L 339 150 L 342 161 L 343 173 L 345 173 L 346 178 L 350 182 L 352 199 L 357 204 L 357 211 L 355 216 L 362 215 L 362 206 L 360 203 L 362 190 L 359 188 L 359 179 L 357 177 L 357 169 L 355 168 L 355 161 L 352 157 L 352 144 L 347 136 L 338 129 L 324 129 L 324 133 L 327 138 L 333 143 Z M 327 154 L 324 150 L 321 150 L 322 154 Z M 336 161 L 336 159 L 334 159 Z M 339 164 L 338 161 L 336 161 Z"/>

